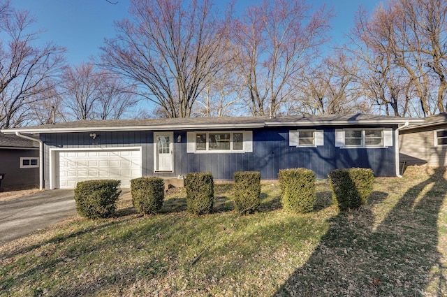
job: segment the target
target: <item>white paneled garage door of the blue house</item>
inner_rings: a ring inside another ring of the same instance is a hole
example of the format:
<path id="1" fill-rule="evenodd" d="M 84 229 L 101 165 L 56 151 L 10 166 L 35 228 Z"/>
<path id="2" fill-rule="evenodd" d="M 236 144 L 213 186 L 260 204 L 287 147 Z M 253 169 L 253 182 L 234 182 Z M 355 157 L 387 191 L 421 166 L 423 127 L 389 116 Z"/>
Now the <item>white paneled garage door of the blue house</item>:
<path id="1" fill-rule="evenodd" d="M 121 180 L 130 188 L 131 179 L 141 176 L 140 150 L 88 150 L 59 152 L 56 176 L 60 189 L 74 189 L 84 180 Z"/>

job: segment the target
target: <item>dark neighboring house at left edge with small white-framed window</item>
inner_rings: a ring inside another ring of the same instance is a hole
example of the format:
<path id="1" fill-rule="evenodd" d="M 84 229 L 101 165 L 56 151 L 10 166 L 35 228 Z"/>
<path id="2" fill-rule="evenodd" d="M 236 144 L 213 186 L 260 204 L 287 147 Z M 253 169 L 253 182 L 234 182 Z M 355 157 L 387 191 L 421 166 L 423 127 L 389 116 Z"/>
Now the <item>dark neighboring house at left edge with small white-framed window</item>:
<path id="1" fill-rule="evenodd" d="M 1 188 L 39 184 L 39 143 L 0 133 Z"/>

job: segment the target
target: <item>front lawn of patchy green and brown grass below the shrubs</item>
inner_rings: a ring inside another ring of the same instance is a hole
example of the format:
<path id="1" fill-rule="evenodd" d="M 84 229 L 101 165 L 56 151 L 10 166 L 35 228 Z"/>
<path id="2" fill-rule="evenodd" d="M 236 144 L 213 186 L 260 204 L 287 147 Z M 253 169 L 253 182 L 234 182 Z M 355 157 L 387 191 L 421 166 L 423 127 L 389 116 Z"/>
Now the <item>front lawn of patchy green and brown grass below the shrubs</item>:
<path id="1" fill-rule="evenodd" d="M 339 213 L 326 180 L 315 211 L 281 210 L 279 184 L 238 217 L 231 185 L 215 212 L 186 213 L 184 190 L 161 214 L 131 201 L 117 217 L 78 216 L 0 247 L 0 296 L 445 296 L 447 173 L 377 178 L 369 205 Z"/>

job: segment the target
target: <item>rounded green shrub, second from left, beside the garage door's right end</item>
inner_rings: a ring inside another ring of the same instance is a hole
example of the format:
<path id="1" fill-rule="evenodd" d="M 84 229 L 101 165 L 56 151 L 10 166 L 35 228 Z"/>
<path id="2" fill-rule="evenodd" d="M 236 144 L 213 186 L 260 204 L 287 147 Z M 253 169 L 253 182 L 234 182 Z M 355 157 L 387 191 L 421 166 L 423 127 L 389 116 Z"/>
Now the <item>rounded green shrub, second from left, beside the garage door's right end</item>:
<path id="1" fill-rule="evenodd" d="M 135 210 L 154 215 L 163 206 L 165 183 L 163 178 L 135 178 L 131 180 L 132 203 Z"/>

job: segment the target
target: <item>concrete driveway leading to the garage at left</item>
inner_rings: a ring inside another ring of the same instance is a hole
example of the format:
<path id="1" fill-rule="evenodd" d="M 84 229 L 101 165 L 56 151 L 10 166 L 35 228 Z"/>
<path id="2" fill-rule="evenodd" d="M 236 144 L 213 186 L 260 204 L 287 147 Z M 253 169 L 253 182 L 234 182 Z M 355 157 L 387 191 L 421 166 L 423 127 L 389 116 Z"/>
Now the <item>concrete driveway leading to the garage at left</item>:
<path id="1" fill-rule="evenodd" d="M 0 202 L 0 245 L 76 213 L 74 191 L 56 189 Z"/>

